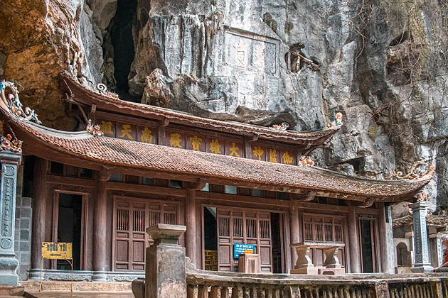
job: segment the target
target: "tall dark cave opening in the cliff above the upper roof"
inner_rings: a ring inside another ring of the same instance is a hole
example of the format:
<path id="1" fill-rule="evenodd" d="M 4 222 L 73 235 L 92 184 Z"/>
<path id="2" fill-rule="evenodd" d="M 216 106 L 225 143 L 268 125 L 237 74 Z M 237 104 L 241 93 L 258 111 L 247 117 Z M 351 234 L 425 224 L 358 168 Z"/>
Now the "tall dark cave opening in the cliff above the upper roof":
<path id="1" fill-rule="evenodd" d="M 117 13 L 112 20 L 110 37 L 114 48 L 114 78 L 121 99 L 139 101 L 129 94 L 128 76 L 135 48 L 132 24 L 137 13 L 137 0 L 118 0 Z"/>

